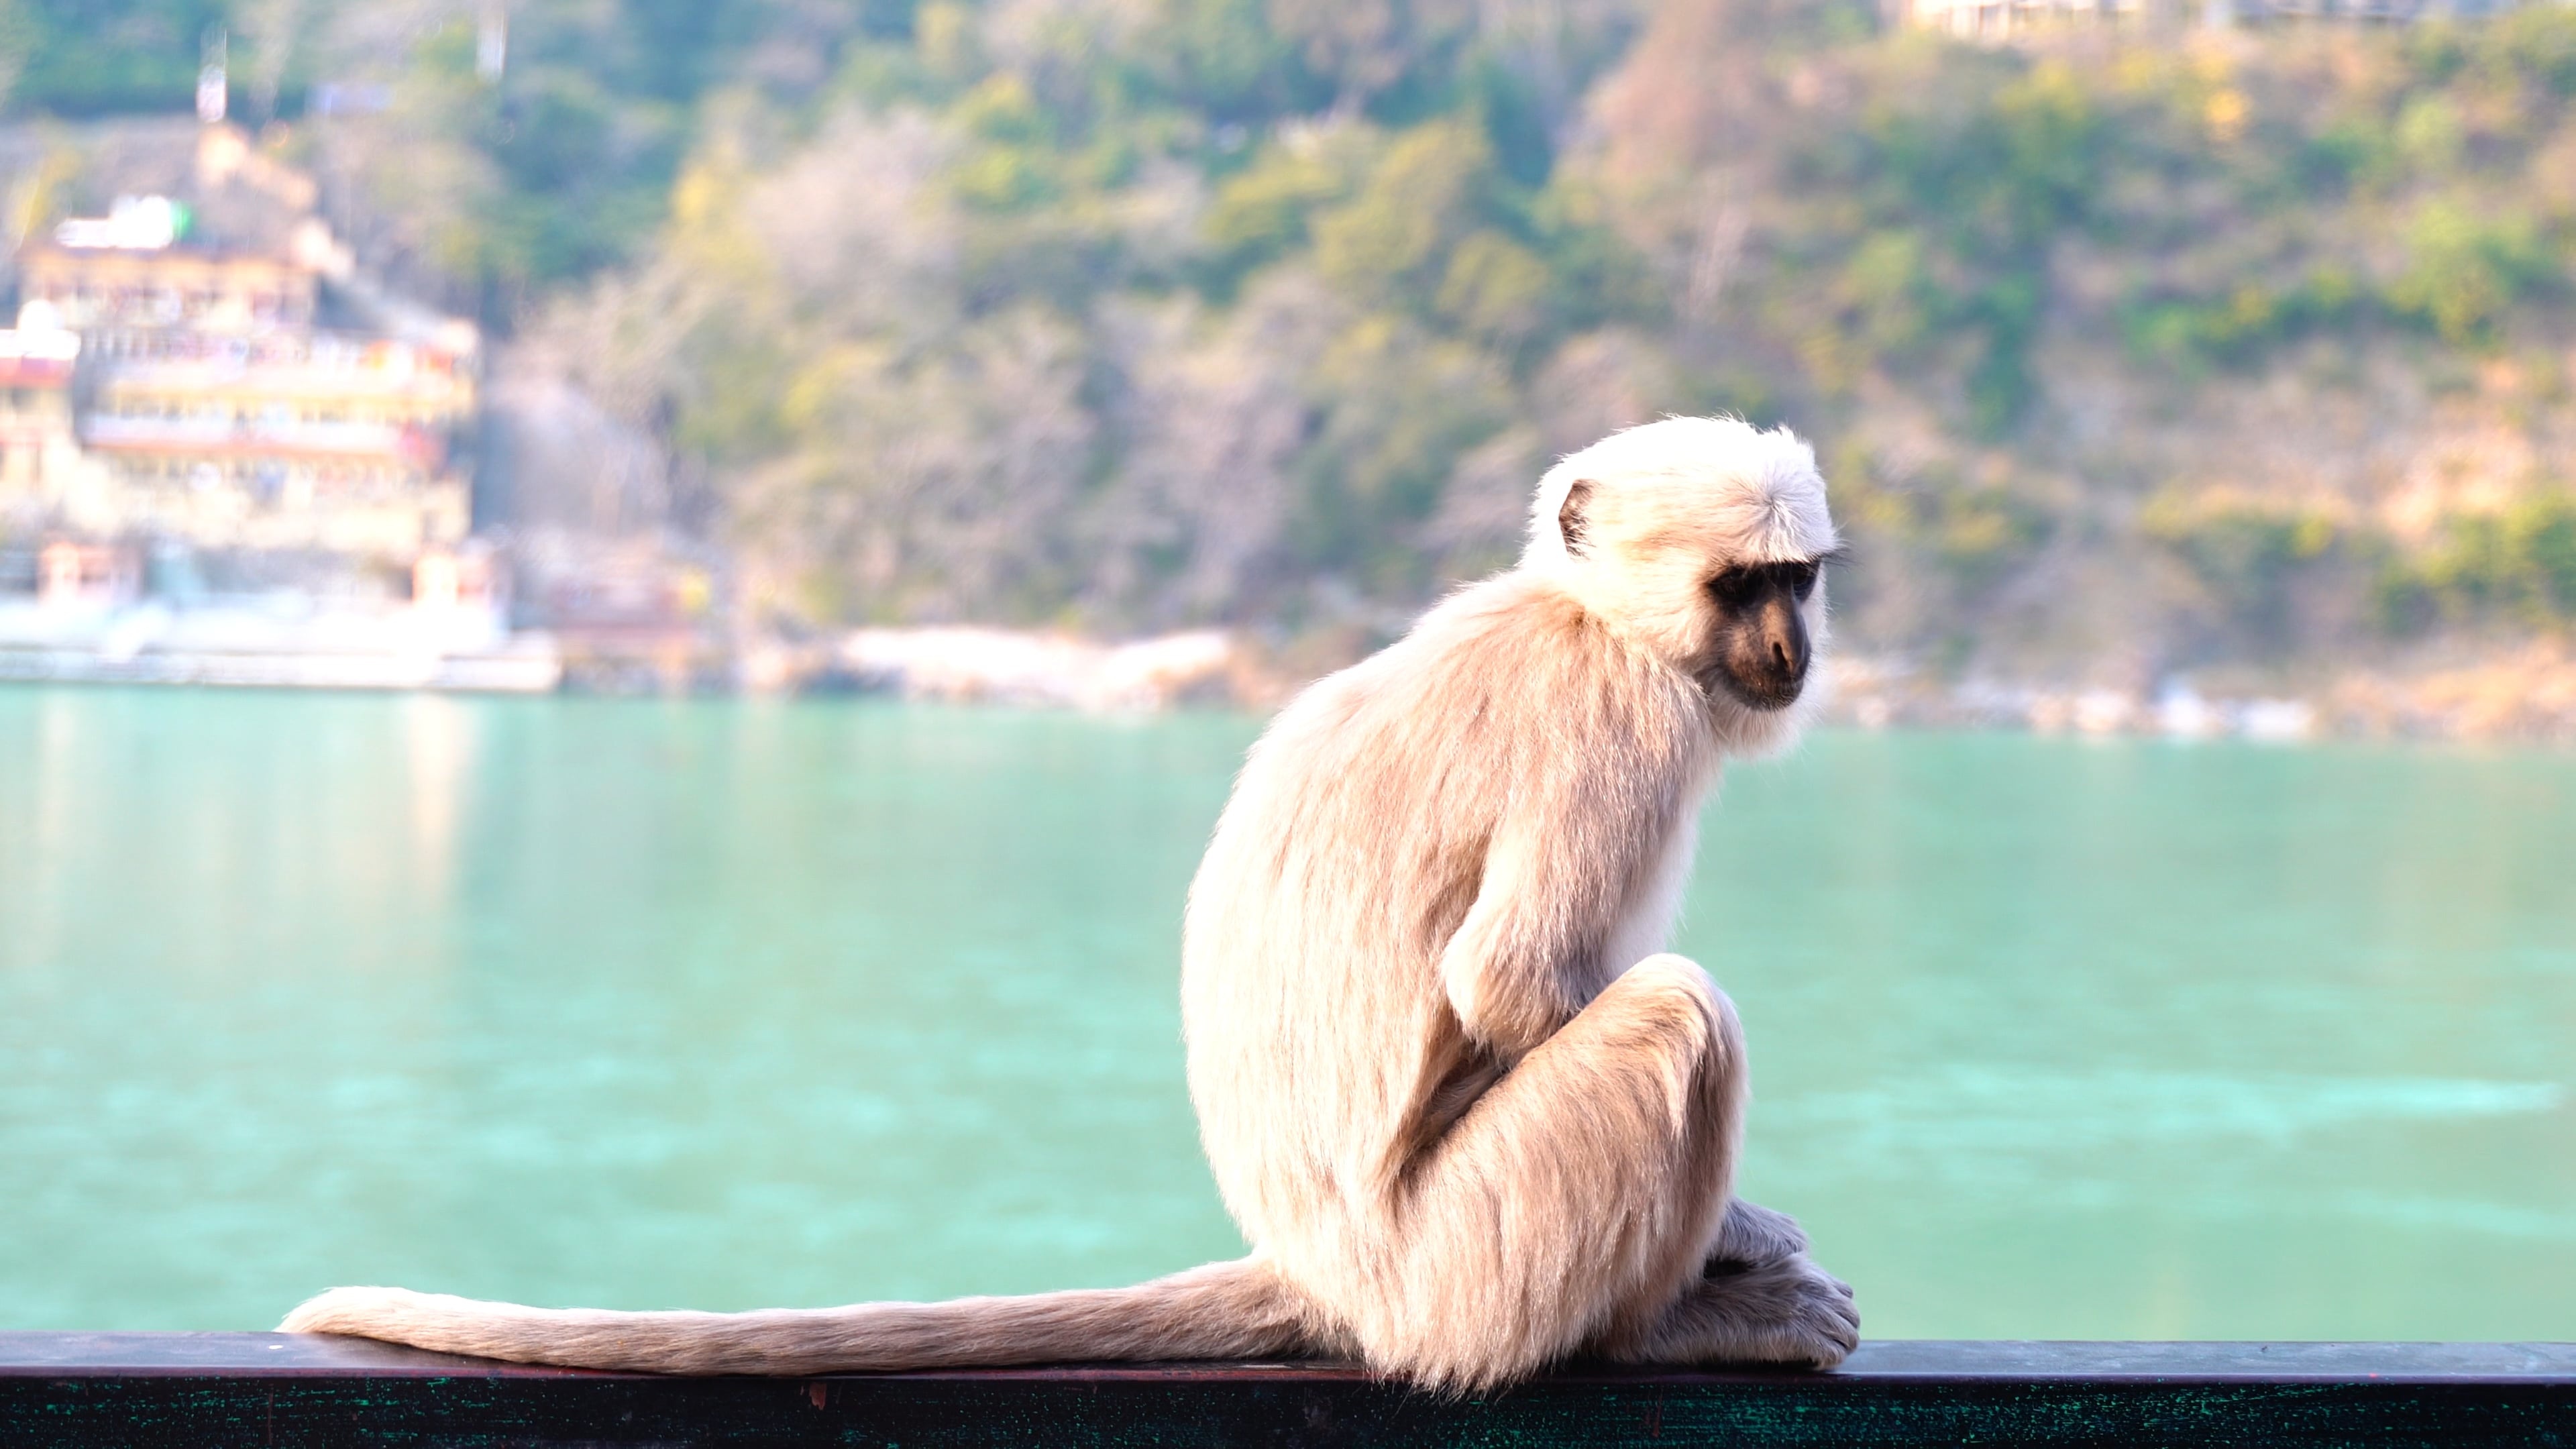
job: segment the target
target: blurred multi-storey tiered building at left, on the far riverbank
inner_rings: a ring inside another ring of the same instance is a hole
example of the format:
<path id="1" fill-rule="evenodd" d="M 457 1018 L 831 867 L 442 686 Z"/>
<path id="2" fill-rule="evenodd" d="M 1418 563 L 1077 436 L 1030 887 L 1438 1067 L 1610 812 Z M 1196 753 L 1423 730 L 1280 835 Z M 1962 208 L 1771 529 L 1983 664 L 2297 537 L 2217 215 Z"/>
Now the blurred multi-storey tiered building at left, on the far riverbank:
<path id="1" fill-rule="evenodd" d="M 80 657 L 106 650 L 113 678 L 229 678 L 258 655 L 245 683 L 440 683 L 422 657 L 551 650 L 510 639 L 505 559 L 474 539 L 474 325 L 368 286 L 314 183 L 242 131 L 173 142 L 193 142 L 185 186 L 15 255 L 0 676 L 98 673 Z M 129 170 L 170 183 L 160 160 Z M 152 652 L 170 668 L 137 676 Z M 556 673 L 549 655 L 456 678 Z"/>

